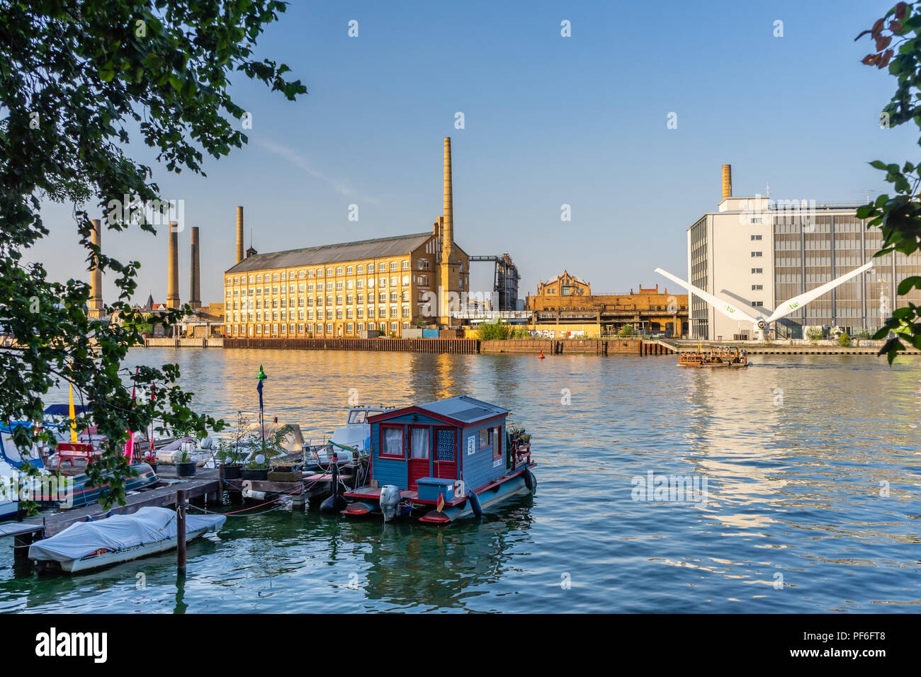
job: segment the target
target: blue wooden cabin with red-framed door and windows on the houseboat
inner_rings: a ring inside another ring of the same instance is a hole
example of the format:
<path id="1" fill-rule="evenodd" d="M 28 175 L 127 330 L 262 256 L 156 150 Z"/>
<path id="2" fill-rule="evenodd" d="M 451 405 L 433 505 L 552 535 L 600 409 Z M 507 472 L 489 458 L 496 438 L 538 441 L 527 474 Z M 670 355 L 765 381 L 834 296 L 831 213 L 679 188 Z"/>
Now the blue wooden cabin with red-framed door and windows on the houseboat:
<path id="1" fill-rule="evenodd" d="M 426 502 L 439 493 L 450 501 L 458 480 L 474 491 L 490 484 L 506 473 L 507 415 L 460 395 L 369 416 L 370 479 Z"/>

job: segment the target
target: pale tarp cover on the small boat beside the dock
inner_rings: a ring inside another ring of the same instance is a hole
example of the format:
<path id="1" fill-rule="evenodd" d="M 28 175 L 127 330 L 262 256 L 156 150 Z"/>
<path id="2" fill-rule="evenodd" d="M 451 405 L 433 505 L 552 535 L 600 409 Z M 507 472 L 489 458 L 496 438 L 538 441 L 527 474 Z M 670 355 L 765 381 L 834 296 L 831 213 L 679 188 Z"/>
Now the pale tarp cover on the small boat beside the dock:
<path id="1" fill-rule="evenodd" d="M 189 515 L 185 531 L 205 527 L 217 531 L 227 519 L 224 515 Z M 92 522 L 76 522 L 51 538 L 29 545 L 29 559 L 68 562 L 93 554 L 99 548 L 124 550 L 135 545 L 155 543 L 176 537 L 176 513 L 169 508 L 140 508 L 131 515 L 112 515 Z"/>

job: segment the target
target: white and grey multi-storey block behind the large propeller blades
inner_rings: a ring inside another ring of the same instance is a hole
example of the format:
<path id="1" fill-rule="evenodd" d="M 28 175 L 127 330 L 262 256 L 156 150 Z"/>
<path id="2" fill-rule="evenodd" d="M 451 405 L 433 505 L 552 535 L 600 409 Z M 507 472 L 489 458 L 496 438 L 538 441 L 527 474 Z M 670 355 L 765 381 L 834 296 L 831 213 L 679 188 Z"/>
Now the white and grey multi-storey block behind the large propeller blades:
<path id="1" fill-rule="evenodd" d="M 723 165 L 717 211 L 687 229 L 690 283 L 769 314 L 777 304 L 874 260 L 882 234 L 857 218 L 857 206 L 736 197 L 731 168 Z M 921 274 L 921 255 L 890 252 L 875 262 L 868 273 L 773 322 L 768 335 L 802 338 L 808 327 L 873 333 L 892 309 L 921 302 L 916 289 L 896 296 L 900 280 Z M 733 321 L 691 295 L 691 338 L 745 340 L 751 333 L 751 323 Z"/>

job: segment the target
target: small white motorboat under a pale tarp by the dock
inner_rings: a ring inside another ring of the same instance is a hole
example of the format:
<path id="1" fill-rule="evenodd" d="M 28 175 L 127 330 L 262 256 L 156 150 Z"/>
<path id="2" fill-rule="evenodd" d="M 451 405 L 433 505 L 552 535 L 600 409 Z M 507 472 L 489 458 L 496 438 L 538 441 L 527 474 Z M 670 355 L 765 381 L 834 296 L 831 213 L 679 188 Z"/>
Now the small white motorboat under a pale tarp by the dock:
<path id="1" fill-rule="evenodd" d="M 206 531 L 217 531 L 225 515 L 186 515 L 186 542 Z M 76 574 L 100 566 L 128 562 L 176 547 L 176 513 L 169 508 L 140 508 L 131 515 L 75 522 L 51 538 L 29 545 L 29 559 L 40 570 L 53 568 Z"/>

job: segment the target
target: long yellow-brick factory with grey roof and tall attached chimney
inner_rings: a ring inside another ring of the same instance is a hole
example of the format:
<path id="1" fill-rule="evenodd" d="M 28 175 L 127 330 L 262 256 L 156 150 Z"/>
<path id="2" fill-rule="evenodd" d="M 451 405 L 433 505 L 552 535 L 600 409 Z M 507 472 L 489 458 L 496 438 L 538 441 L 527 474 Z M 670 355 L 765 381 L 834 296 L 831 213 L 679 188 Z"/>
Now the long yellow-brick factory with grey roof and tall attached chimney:
<path id="1" fill-rule="evenodd" d="M 402 336 L 449 327 L 470 287 L 470 257 L 454 241 L 451 144 L 444 139 L 443 211 L 429 232 L 260 254 L 224 274 L 228 338 Z"/>

